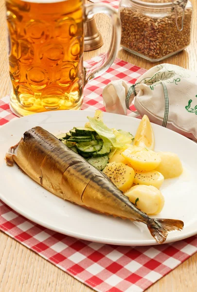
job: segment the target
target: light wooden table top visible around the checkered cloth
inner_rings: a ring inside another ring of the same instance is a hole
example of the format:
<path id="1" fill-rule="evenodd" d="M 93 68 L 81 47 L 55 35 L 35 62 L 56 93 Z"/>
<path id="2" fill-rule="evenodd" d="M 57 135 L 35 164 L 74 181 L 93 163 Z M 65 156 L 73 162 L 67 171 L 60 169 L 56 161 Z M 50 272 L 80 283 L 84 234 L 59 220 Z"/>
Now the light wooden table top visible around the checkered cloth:
<path id="1" fill-rule="evenodd" d="M 197 71 L 197 2 L 194 6 L 192 43 L 187 50 L 164 62 Z M 9 94 L 7 67 L 6 28 L 4 1 L 0 0 L 0 98 Z M 96 17 L 97 26 L 104 38 L 104 46 L 84 54 L 84 59 L 105 52 L 109 44 L 111 25 L 105 15 Z M 153 64 L 120 50 L 118 57 L 149 69 Z M 147 292 L 196 292 L 197 254 L 191 256 L 177 269 L 152 285 Z M 56 268 L 11 237 L 0 232 L 0 292 L 90 292 L 92 289 Z"/>

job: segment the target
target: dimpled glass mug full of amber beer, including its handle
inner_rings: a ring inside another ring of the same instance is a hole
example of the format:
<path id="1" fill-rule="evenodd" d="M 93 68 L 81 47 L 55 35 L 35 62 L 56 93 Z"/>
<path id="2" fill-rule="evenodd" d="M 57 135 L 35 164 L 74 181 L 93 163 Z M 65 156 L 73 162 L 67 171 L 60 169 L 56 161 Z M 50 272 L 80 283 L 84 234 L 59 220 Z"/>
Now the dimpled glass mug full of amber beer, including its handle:
<path id="1" fill-rule="evenodd" d="M 114 61 L 120 44 L 117 12 L 83 0 L 6 0 L 9 29 L 10 105 L 18 115 L 79 110 L 83 89 Z M 112 19 L 109 51 L 97 65 L 83 67 L 84 21 L 96 13 Z"/>

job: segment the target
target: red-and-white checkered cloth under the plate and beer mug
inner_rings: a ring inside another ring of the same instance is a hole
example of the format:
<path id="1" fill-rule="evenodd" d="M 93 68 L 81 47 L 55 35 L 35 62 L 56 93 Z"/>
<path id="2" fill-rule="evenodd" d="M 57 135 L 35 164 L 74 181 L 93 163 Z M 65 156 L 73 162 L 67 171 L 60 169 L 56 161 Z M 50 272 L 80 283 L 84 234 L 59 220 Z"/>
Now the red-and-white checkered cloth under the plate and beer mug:
<path id="1" fill-rule="evenodd" d="M 86 65 L 94 65 L 101 56 Z M 145 70 L 116 59 L 84 90 L 83 110 L 105 110 L 102 90 L 119 78 L 135 83 Z M 9 97 L 0 100 L 0 125 L 16 117 Z M 99 292 L 142 292 L 197 252 L 197 236 L 173 244 L 146 247 L 113 246 L 78 240 L 25 219 L 0 201 L 0 230 L 15 238 L 58 268 Z"/>

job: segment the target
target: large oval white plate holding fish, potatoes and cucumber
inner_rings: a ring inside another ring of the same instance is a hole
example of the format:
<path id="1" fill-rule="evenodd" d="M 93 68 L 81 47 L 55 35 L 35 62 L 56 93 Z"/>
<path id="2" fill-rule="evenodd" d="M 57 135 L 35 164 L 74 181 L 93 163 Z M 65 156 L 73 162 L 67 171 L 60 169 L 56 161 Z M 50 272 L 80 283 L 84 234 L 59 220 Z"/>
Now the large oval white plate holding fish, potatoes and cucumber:
<path id="1" fill-rule="evenodd" d="M 92 213 L 82 207 L 54 196 L 23 174 L 18 166 L 5 164 L 5 152 L 18 143 L 23 133 L 41 126 L 54 135 L 83 127 L 93 111 L 54 111 L 38 113 L 11 121 L 0 128 L 0 199 L 15 211 L 32 221 L 54 231 L 90 241 L 120 245 L 154 245 L 145 224 L 132 223 Z M 139 119 L 104 113 L 109 128 L 124 129 L 135 134 Z M 156 150 L 172 151 L 179 155 L 184 172 L 177 178 L 166 180 L 161 192 L 164 208 L 158 218 L 181 219 L 183 231 L 174 231 L 166 242 L 197 234 L 197 144 L 158 125 L 152 125 Z"/>

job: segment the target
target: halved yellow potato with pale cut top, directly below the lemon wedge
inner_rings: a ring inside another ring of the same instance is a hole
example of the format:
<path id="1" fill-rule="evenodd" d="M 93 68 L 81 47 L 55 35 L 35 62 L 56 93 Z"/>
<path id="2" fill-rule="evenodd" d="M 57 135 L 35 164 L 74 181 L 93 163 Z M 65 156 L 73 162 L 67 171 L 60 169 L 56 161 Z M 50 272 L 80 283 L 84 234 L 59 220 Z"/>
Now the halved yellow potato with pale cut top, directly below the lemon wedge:
<path id="1" fill-rule="evenodd" d="M 137 146 L 127 148 L 122 155 L 136 171 L 153 170 L 161 162 L 158 153 Z"/>

